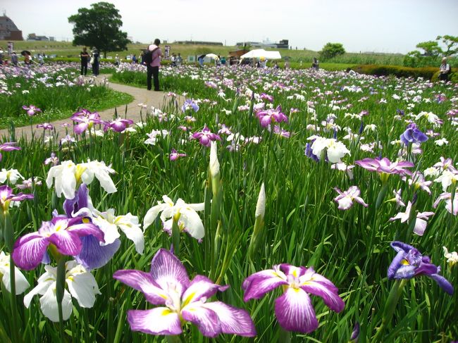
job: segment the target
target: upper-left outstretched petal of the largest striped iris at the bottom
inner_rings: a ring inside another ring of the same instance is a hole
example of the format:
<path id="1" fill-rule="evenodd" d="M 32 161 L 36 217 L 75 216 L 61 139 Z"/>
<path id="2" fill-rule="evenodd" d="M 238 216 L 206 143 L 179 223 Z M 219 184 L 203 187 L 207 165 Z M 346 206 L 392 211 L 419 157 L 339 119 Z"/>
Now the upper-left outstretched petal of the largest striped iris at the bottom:
<path id="1" fill-rule="evenodd" d="M 151 304 L 166 304 L 166 300 L 168 299 L 167 293 L 158 287 L 151 274 L 140 270 L 118 270 L 113 274 L 113 277 L 125 285 L 142 292 Z"/>

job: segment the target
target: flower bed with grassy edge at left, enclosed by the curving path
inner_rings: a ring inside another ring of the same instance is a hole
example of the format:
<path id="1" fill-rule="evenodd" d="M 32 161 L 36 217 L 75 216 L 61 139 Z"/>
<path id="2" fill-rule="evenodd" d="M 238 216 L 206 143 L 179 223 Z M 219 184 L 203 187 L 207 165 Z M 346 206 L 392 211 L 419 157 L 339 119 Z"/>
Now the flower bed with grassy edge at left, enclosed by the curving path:
<path id="1" fill-rule="evenodd" d="M 56 63 L 30 68 L 0 69 L 0 128 L 68 118 L 79 107 L 99 110 L 127 104 L 132 98 L 82 78 L 78 63 Z M 101 71 L 107 70 L 103 68 Z M 90 73 L 89 73 L 90 74 Z M 33 104 L 44 119 L 27 115 L 23 106 Z"/>

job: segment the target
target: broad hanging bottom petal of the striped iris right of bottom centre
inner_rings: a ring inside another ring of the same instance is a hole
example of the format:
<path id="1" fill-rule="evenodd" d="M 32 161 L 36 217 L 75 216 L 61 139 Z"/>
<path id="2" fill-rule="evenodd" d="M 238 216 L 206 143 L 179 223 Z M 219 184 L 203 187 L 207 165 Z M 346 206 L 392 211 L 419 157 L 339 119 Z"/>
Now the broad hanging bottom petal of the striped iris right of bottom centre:
<path id="1" fill-rule="evenodd" d="M 275 314 L 280 326 L 287 331 L 309 333 L 318 328 L 309 294 L 300 288 L 288 288 L 276 299 Z"/>

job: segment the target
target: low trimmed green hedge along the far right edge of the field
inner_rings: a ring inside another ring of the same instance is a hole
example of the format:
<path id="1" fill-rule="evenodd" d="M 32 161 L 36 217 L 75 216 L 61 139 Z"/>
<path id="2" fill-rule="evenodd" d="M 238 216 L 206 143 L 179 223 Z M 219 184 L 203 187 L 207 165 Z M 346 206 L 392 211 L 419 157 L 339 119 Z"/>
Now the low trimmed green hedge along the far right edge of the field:
<path id="1" fill-rule="evenodd" d="M 401 66 L 377 66 L 375 64 L 360 65 L 352 68 L 360 74 L 388 76 L 395 75 L 397 77 L 423 77 L 423 79 L 431 80 L 433 75 L 438 72 L 438 68 L 410 68 Z"/>

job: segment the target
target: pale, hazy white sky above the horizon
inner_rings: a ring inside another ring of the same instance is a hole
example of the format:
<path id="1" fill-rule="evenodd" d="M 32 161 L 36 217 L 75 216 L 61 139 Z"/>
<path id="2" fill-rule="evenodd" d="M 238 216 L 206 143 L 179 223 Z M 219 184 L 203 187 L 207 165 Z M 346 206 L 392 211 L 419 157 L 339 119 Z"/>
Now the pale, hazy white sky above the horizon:
<path id="1" fill-rule="evenodd" d="M 402 53 L 438 35 L 458 36 L 458 0 L 106 0 L 135 42 L 198 40 L 278 42 L 318 51 L 327 42 L 349 52 Z M 2 0 L 0 11 L 24 38 L 73 39 L 68 17 L 88 0 Z"/>

